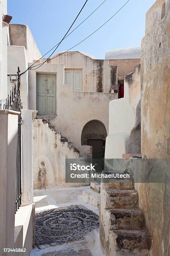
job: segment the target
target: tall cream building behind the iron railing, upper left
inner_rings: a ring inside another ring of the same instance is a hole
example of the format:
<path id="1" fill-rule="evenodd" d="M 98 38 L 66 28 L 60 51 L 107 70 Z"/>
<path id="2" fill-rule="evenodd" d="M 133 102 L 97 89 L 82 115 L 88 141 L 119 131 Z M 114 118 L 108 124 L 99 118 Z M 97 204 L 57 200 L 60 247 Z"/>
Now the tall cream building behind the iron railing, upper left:
<path id="1" fill-rule="evenodd" d="M 28 26 L 21 24 L 9 25 L 10 45 L 7 46 L 7 72 L 8 74 L 17 74 L 18 67 L 20 73 L 28 68 L 28 62 L 41 57 L 35 40 Z M 15 77 L 12 77 L 15 78 Z M 12 89 L 13 83 L 8 77 L 8 94 Z M 23 108 L 28 109 L 28 72 L 21 76 L 20 94 L 23 102 Z"/>

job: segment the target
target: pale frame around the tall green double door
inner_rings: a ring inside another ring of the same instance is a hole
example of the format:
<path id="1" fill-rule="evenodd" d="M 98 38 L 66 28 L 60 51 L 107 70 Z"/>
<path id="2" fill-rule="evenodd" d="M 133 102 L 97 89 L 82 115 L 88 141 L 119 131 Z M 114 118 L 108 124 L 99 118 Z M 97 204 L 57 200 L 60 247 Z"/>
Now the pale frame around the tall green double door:
<path id="1" fill-rule="evenodd" d="M 36 110 L 37 110 L 37 75 L 39 74 L 43 74 L 43 75 L 55 75 L 55 114 L 44 114 L 44 115 L 39 115 L 37 113 L 38 116 L 40 117 L 56 117 L 57 116 L 57 73 L 55 72 L 36 72 Z"/>

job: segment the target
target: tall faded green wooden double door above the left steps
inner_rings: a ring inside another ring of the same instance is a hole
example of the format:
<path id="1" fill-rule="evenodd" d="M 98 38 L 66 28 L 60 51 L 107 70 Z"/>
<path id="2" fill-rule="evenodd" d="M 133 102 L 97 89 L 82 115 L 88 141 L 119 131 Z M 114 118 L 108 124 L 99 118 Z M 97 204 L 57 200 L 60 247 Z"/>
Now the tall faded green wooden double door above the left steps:
<path id="1" fill-rule="evenodd" d="M 37 110 L 38 115 L 55 115 L 56 77 L 37 74 Z"/>

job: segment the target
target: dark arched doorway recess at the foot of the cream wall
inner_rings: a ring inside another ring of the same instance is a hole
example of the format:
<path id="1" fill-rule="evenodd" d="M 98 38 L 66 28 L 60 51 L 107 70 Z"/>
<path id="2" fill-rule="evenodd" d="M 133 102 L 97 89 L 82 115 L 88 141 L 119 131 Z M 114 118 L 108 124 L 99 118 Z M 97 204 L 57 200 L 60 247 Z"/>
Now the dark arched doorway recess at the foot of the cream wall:
<path id="1" fill-rule="evenodd" d="M 82 145 L 92 146 L 92 158 L 105 157 L 105 141 L 107 131 L 105 125 L 98 120 L 91 120 L 82 129 Z"/>

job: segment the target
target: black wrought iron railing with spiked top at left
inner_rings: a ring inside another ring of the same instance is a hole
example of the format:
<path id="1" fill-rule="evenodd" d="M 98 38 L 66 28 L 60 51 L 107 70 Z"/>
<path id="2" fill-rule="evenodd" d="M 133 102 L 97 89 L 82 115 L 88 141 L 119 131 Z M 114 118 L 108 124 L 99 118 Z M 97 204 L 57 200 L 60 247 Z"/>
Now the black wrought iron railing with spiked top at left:
<path id="1" fill-rule="evenodd" d="M 21 166 L 21 109 L 23 108 L 20 99 L 20 69 L 18 67 L 18 77 L 16 79 L 11 79 L 10 82 L 14 82 L 14 86 L 10 91 L 10 95 L 7 96 L 5 103 L 3 104 L 3 109 L 14 110 L 20 112 L 18 115 L 18 139 L 17 139 L 17 166 L 16 166 L 16 197 L 15 197 L 15 212 L 19 209 L 22 203 L 22 166 Z M 16 83 L 17 82 L 17 83 Z M 2 108 L 2 103 L 0 102 L 0 108 Z"/>

